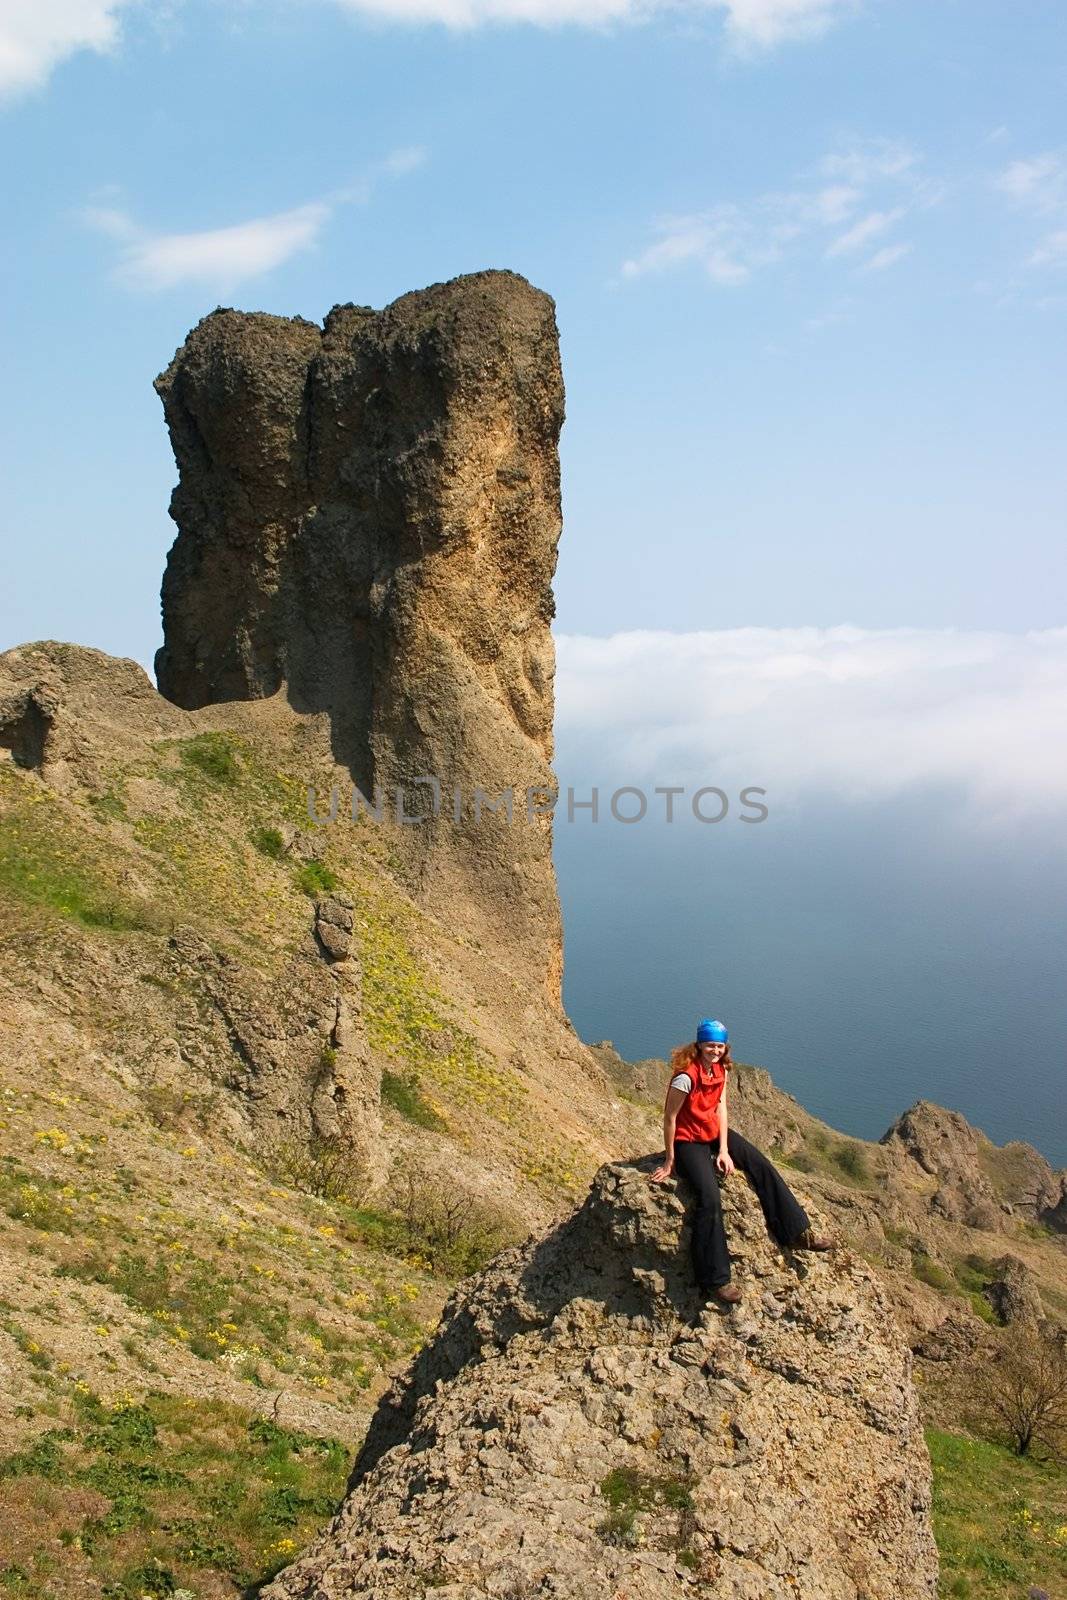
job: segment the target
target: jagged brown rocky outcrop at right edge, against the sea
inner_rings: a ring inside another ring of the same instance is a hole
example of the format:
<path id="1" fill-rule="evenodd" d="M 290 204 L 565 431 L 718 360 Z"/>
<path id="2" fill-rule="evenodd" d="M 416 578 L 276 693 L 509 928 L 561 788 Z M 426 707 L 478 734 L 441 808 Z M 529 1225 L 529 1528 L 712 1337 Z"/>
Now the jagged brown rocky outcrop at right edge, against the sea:
<path id="1" fill-rule="evenodd" d="M 1019 1213 L 1067 1232 L 1067 1171 L 1053 1171 L 1030 1144 L 997 1146 L 931 1101 L 905 1110 L 881 1144 L 934 1179 L 929 1206 L 950 1222 L 998 1230 Z"/>

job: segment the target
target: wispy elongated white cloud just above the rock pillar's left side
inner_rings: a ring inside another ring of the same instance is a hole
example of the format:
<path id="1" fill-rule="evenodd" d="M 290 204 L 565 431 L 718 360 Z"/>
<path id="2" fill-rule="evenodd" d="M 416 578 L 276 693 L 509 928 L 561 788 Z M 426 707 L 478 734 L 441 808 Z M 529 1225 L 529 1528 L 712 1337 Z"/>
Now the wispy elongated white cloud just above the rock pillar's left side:
<path id="1" fill-rule="evenodd" d="M 424 160 L 422 149 L 394 150 L 366 178 L 323 200 L 229 227 L 158 234 L 139 227 L 115 205 L 86 206 L 82 221 L 120 245 L 112 277 L 125 288 L 170 290 L 179 283 L 205 283 L 229 290 L 312 248 L 339 206 L 370 200 L 376 176 L 403 176 Z"/>

